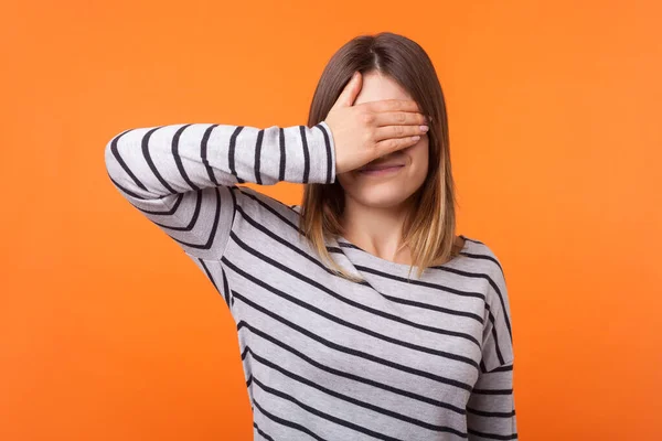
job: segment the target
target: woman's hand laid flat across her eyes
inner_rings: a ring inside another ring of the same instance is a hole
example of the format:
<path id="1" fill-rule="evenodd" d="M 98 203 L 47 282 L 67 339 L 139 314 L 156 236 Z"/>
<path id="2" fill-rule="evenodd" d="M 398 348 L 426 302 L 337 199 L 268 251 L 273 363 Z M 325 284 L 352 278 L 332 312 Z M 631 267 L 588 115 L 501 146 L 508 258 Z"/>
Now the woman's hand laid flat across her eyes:
<path id="1" fill-rule="evenodd" d="M 414 100 L 384 99 L 354 106 L 361 84 L 361 73 L 356 72 L 324 120 L 335 144 L 335 174 L 414 146 L 427 131 L 427 118 Z"/>

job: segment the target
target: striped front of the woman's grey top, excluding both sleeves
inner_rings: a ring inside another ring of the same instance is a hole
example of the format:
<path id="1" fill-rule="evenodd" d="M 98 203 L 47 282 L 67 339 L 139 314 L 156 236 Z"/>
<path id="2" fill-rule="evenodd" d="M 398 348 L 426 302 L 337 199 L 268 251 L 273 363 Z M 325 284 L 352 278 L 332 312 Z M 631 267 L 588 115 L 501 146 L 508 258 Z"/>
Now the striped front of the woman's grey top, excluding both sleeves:
<path id="1" fill-rule="evenodd" d="M 242 202 L 222 265 L 252 406 L 395 439 L 462 431 L 481 362 L 483 275 L 494 266 L 466 254 L 489 248 L 466 240 L 465 254 L 407 280 L 408 266 L 331 240 L 335 261 L 365 279 L 356 283 L 328 271 L 302 239 L 299 207 L 248 192 L 256 197 Z"/>

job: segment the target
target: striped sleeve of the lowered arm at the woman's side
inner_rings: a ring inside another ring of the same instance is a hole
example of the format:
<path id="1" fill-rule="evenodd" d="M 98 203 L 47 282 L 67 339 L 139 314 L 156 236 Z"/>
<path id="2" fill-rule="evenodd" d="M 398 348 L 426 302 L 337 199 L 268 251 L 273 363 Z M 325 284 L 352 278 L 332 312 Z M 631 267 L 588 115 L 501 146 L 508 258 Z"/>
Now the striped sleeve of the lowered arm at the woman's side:
<path id="1" fill-rule="evenodd" d="M 471 441 L 516 440 L 510 303 L 500 265 L 489 281 L 482 361 L 467 405 L 467 429 Z"/>

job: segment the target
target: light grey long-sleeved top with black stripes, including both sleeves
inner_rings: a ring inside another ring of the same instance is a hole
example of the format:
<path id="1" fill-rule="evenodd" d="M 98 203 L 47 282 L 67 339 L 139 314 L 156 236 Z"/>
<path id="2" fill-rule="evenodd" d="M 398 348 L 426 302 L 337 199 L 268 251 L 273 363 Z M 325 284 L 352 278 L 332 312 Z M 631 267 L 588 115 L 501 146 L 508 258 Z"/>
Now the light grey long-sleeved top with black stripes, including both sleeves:
<path id="1" fill-rule="evenodd" d="M 105 150 L 126 200 L 211 280 L 237 325 L 255 440 L 516 440 L 505 278 L 483 243 L 426 269 L 343 237 L 328 269 L 299 205 L 247 186 L 331 184 L 324 121 L 129 129 Z"/>

